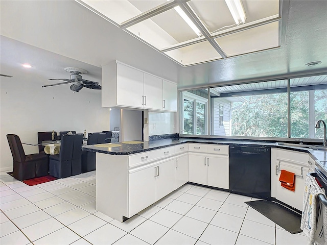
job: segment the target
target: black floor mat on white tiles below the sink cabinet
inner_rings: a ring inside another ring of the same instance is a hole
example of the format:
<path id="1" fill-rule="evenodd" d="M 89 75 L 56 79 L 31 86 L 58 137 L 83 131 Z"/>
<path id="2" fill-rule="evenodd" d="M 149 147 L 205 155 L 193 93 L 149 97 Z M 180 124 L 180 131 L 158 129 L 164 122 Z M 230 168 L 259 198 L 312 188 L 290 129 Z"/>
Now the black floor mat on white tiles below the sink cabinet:
<path id="1" fill-rule="evenodd" d="M 256 211 L 265 215 L 278 226 L 283 227 L 288 232 L 292 234 L 302 232 L 302 230 L 300 229 L 301 215 L 296 213 L 295 211 L 284 207 L 281 204 L 265 200 L 251 201 L 245 203 L 250 207 L 254 208 Z"/>

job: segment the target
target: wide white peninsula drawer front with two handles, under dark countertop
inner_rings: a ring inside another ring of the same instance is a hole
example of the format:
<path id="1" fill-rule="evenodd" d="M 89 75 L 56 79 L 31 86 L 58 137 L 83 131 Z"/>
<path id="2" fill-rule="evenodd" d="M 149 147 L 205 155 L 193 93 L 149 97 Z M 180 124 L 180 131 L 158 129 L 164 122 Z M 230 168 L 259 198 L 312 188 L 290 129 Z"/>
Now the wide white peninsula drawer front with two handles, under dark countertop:
<path id="1" fill-rule="evenodd" d="M 161 158 L 164 159 L 174 154 L 174 146 L 139 154 L 133 154 L 129 156 L 129 167 L 134 167 L 143 163 L 150 163 L 154 160 L 160 160 Z"/>

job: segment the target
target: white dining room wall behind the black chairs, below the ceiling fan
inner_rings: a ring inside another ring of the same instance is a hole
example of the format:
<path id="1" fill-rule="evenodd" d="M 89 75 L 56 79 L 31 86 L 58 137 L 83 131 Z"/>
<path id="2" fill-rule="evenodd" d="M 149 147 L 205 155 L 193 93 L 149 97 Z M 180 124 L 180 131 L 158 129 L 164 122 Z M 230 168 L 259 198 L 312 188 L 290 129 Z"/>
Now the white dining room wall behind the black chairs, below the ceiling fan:
<path id="1" fill-rule="evenodd" d="M 1 171 L 12 169 L 7 134 L 22 142 L 37 142 L 39 131 L 77 133 L 109 130 L 109 108 L 101 107 L 101 90 L 71 91 L 68 85 L 41 88 L 44 78 L 27 72 L 1 78 Z M 38 153 L 37 146 L 23 145 L 26 154 Z"/>

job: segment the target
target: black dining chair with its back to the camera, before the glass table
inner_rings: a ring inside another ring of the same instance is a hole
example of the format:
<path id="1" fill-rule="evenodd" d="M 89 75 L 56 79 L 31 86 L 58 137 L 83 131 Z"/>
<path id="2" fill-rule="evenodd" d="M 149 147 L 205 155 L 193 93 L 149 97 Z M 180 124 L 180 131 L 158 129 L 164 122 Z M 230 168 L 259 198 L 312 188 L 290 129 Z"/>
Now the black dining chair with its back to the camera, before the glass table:
<path id="1" fill-rule="evenodd" d="M 50 175 L 66 178 L 82 173 L 83 134 L 61 136 L 60 153 L 50 155 Z"/>

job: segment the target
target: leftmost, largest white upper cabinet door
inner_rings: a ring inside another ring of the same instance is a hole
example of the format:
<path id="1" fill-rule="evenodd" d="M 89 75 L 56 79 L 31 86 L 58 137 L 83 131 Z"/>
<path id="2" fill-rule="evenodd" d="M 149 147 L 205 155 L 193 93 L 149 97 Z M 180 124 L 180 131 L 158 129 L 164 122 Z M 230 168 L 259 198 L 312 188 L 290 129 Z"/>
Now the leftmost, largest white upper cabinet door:
<path id="1" fill-rule="evenodd" d="M 143 108 L 142 95 L 143 72 L 117 63 L 117 105 Z"/>

